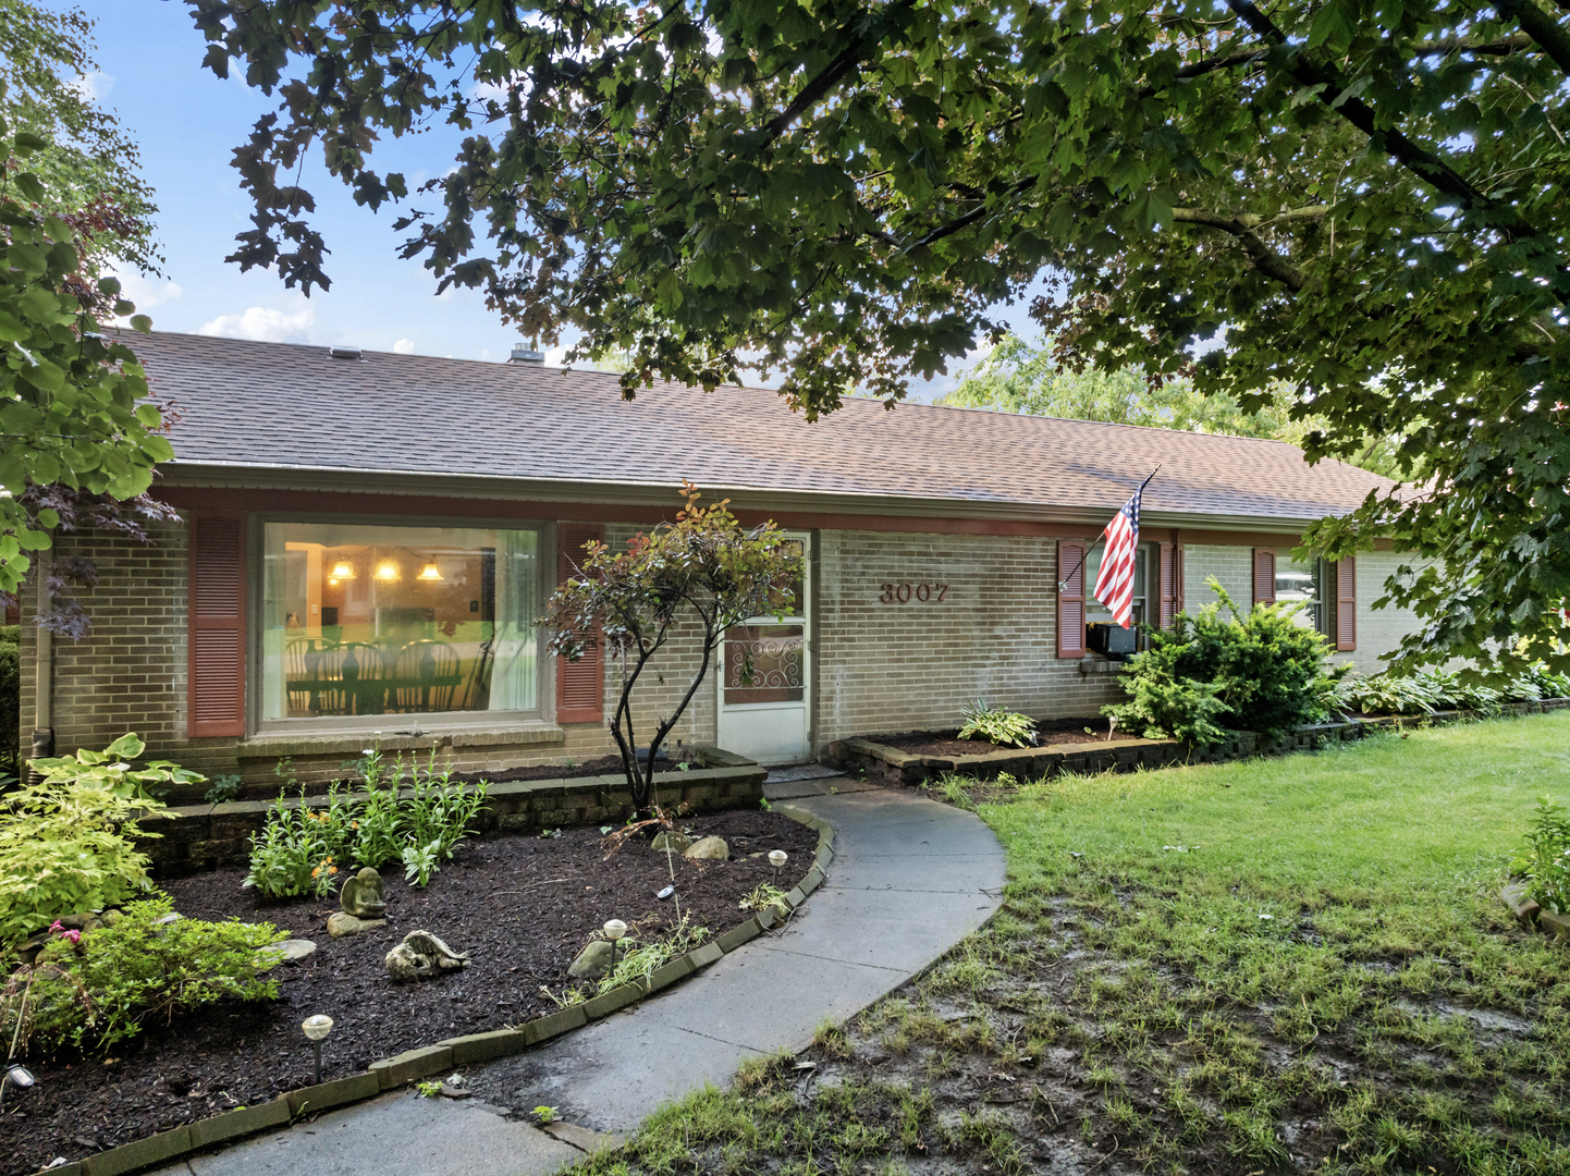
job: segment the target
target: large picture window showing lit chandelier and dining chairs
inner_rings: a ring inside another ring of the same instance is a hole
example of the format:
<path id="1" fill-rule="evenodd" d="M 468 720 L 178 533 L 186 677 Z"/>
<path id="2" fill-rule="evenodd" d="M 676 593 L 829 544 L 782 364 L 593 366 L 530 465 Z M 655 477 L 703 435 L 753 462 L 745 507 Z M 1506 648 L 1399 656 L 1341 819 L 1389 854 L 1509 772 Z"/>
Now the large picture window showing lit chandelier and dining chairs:
<path id="1" fill-rule="evenodd" d="M 264 532 L 264 721 L 539 707 L 534 531 Z"/>

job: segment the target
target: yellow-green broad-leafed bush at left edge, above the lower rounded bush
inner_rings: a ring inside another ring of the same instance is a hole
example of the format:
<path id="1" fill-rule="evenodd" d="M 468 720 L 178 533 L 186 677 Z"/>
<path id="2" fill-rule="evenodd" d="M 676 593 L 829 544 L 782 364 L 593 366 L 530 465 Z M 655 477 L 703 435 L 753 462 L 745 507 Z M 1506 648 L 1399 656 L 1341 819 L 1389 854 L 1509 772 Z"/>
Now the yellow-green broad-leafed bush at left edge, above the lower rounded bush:
<path id="1" fill-rule="evenodd" d="M 141 752 L 141 740 L 122 735 L 102 752 L 33 760 L 44 779 L 0 799 L 0 944 L 151 889 L 148 856 L 122 831 L 162 815 L 149 787 L 203 777 L 166 760 L 137 771 L 129 761 Z M 157 837 L 143 829 L 129 832 Z"/>

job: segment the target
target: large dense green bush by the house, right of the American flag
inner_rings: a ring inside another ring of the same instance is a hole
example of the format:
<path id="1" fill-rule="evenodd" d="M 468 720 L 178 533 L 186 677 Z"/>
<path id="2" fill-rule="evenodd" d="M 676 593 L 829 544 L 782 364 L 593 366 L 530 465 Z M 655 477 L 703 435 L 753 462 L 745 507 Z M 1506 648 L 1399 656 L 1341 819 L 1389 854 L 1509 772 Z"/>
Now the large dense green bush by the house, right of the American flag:
<path id="1" fill-rule="evenodd" d="M 1201 746 L 1226 738 L 1223 719 L 1272 736 L 1324 719 L 1350 667 L 1327 664 L 1324 634 L 1295 620 L 1302 606 L 1256 604 L 1240 614 L 1217 579 L 1209 584 L 1220 600 L 1193 615 L 1179 612 L 1167 631 L 1152 630 L 1151 647 L 1119 677 L 1129 702 L 1102 707 L 1102 714 L 1134 735 Z"/>

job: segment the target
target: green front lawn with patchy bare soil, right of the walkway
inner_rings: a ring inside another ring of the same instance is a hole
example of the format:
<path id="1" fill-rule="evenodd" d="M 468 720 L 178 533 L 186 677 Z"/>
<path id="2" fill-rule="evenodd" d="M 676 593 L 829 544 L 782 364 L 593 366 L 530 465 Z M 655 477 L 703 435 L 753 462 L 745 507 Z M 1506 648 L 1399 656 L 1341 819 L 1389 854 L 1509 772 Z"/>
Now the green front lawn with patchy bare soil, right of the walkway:
<path id="1" fill-rule="evenodd" d="M 986 931 L 592 1167 L 1570 1173 L 1570 948 L 1498 900 L 1545 793 L 1570 713 L 991 799 Z"/>

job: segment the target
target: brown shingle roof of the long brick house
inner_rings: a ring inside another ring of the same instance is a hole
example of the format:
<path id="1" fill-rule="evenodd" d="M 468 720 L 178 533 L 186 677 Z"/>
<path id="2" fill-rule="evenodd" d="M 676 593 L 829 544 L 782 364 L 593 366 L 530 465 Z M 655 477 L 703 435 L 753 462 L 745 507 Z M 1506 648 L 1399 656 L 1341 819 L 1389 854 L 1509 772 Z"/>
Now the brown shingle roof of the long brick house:
<path id="1" fill-rule="evenodd" d="M 1386 482 L 1280 441 L 851 400 L 813 424 L 776 393 L 659 386 L 537 364 L 195 334 L 127 334 L 182 411 L 177 465 L 458 474 L 1308 520 Z"/>

